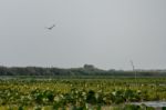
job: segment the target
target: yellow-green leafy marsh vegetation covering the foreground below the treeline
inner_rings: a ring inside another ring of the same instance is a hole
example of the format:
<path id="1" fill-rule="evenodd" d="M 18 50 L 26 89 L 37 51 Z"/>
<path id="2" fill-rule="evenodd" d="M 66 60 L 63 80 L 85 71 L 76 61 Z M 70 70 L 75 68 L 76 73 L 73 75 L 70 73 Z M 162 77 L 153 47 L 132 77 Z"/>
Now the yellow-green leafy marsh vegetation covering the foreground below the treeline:
<path id="1" fill-rule="evenodd" d="M 144 110 L 129 102 L 153 100 L 166 100 L 166 78 L 0 80 L 0 110 Z"/>

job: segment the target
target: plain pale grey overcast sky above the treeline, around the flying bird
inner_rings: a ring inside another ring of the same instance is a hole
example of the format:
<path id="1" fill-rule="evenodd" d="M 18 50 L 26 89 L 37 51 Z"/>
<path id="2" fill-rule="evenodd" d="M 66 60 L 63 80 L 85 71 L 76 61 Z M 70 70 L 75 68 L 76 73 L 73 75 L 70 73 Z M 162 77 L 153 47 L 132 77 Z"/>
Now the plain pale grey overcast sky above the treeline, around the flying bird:
<path id="1" fill-rule="evenodd" d="M 3 66 L 166 69 L 165 47 L 166 0 L 0 0 Z"/>

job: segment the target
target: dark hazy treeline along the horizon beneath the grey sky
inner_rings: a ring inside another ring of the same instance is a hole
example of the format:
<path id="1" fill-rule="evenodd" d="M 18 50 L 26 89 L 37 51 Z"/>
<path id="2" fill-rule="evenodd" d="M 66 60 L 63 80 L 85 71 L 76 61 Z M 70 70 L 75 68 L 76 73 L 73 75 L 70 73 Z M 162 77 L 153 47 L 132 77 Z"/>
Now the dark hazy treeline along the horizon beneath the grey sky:
<path id="1" fill-rule="evenodd" d="M 135 73 L 136 72 L 136 73 Z M 0 67 L 0 76 L 113 76 L 113 77 L 166 77 L 165 71 L 102 70 L 92 64 L 83 68 Z"/>

